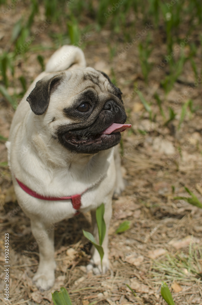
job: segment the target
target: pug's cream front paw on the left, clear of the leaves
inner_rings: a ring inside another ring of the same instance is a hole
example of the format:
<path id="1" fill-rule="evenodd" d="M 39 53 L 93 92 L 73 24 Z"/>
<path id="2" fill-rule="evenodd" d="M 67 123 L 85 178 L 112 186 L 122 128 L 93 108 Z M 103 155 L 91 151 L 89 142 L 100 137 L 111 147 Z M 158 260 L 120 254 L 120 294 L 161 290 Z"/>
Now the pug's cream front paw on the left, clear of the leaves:
<path id="1" fill-rule="evenodd" d="M 55 281 L 54 270 L 52 272 L 37 272 L 33 277 L 33 283 L 37 286 L 39 291 L 50 289 Z"/>

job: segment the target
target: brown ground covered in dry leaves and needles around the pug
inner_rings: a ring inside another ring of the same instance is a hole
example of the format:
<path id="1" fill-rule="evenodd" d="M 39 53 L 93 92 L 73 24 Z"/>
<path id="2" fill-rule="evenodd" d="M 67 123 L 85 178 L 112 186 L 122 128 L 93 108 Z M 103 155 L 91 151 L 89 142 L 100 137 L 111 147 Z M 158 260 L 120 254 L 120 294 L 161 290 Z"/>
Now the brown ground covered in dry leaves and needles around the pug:
<path id="1" fill-rule="evenodd" d="M 1 48 L 9 48 L 9 35 L 22 9 L 26 12 L 26 8 L 20 2 L 15 12 L 9 13 L 9 18 L 4 17 Z M 35 20 L 32 31 L 40 27 L 43 20 L 45 17 L 41 9 L 40 17 Z M 56 33 L 60 31 L 59 27 L 53 28 L 52 25 L 50 29 Z M 151 30 L 151 38 L 155 41 L 150 57 L 154 67 L 149 75 L 148 85 L 142 77 L 137 44 L 119 58 L 117 53 L 126 46 L 122 34 L 113 34 L 108 27 L 99 34 L 92 31 L 84 50 L 88 66 L 103 70 L 110 77 L 113 68 L 117 78 L 116 84 L 123 92 L 125 107 L 127 110 L 130 109 L 129 120 L 133 128 L 132 133 L 125 132 L 123 135 L 122 164 L 126 188 L 122 195 L 113 201 L 114 213 L 109 233 L 111 270 L 107 274 L 86 274 L 86 265 L 90 257 L 89 246 L 82 236 L 81 229 L 90 228 L 90 216 L 78 215 L 56 226 L 56 282 L 50 291 L 39 292 L 31 280 L 38 265 L 38 249 L 33 246 L 35 241 L 31 234 L 30 221 L 21 210 L 18 210 L 9 169 L 1 168 L 0 289 L 3 293 L 3 240 L 5 233 L 9 233 L 12 305 L 52 304 L 51 291 L 60 289 L 61 286 L 67 288 L 73 304 L 88 305 L 99 302 L 110 305 L 162 305 L 165 304 L 160 293 L 162 280 L 166 280 L 169 287 L 172 285 L 175 304 L 202 304 L 202 211 L 185 201 L 173 199 L 175 196 L 187 196 L 184 190 L 186 186 L 202 200 L 202 88 L 200 83 L 192 91 L 188 87 L 195 79 L 190 63 L 186 62 L 180 79 L 165 96 L 160 81 L 168 68 L 165 66 L 158 72 L 155 65 L 164 58 L 166 46 L 163 37 L 157 37 L 154 30 Z M 117 44 L 117 52 L 111 60 L 107 47 L 109 41 L 112 45 Z M 33 42 L 33 45 L 38 44 L 50 48 L 40 51 L 47 60 L 53 52 L 53 42 L 48 30 L 41 33 Z M 189 52 L 189 45 L 186 46 L 186 52 Z M 201 71 L 200 54 L 201 49 L 198 48 L 195 60 L 198 70 Z M 11 94 L 13 87 L 17 88 L 16 90 L 21 88 L 18 80 L 20 75 L 25 76 L 29 85 L 41 72 L 37 55 L 36 52 L 29 51 L 24 58 L 16 62 L 15 78 L 9 76 L 12 83 L 9 88 Z M 138 95 L 132 95 L 134 82 L 138 84 L 145 99 L 152 103 L 152 111 L 157 114 L 155 122 L 150 122 Z M 166 127 L 153 98 L 155 91 L 163 101 L 163 109 L 167 116 L 168 106 L 172 106 L 177 113 L 175 120 Z M 182 99 L 175 103 L 180 95 Z M 193 99 L 194 108 L 199 107 L 194 113 L 187 111 L 178 130 L 182 104 L 188 99 Z M 13 111 L 3 97 L 0 113 L 0 134 L 8 137 Z M 146 131 L 145 135 L 139 130 Z M 0 143 L 0 152 L 0 162 L 6 161 L 7 153 L 3 142 Z M 174 193 L 172 186 L 175 186 Z M 10 213 L 13 213 L 12 217 Z M 131 221 L 130 229 L 122 234 L 115 234 L 115 230 L 124 220 Z M 24 250 L 26 254 L 22 255 Z M 134 289 L 136 296 L 126 284 Z M 5 302 L 3 294 L 1 300 L 2 304 L 8 303 Z"/>

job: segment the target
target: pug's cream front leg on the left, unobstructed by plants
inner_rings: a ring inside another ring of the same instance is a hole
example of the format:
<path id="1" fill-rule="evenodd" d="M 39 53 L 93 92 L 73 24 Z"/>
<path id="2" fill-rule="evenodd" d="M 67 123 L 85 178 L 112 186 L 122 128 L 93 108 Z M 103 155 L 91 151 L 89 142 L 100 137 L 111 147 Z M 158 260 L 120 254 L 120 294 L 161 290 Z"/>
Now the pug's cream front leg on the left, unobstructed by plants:
<path id="1" fill-rule="evenodd" d="M 31 230 L 39 248 L 39 266 L 33 282 L 39 290 L 48 290 L 55 280 L 54 227 L 52 224 L 31 219 Z"/>

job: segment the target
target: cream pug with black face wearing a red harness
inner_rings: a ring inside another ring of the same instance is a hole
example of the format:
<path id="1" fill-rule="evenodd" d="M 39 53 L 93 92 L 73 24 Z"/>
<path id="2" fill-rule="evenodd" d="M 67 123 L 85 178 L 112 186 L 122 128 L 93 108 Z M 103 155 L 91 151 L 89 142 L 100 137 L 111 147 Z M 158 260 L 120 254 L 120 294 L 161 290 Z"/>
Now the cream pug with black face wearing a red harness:
<path id="1" fill-rule="evenodd" d="M 121 91 L 109 77 L 86 67 L 81 49 L 63 46 L 31 84 L 13 117 L 8 160 L 18 203 L 31 220 L 40 290 L 54 283 L 54 224 L 91 210 L 99 243 L 96 208 L 104 203 L 104 257 L 92 248 L 87 270 L 106 272 L 113 193 L 124 183 L 117 144 L 126 114 Z"/>

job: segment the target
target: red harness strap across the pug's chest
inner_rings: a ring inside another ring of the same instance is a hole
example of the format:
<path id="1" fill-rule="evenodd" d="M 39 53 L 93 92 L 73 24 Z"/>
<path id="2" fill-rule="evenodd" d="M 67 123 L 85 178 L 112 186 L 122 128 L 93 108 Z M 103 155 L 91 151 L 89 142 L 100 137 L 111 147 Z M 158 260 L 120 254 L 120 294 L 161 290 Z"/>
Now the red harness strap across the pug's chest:
<path id="1" fill-rule="evenodd" d="M 25 191 L 27 194 L 31 195 L 32 197 L 38 198 L 38 199 L 43 199 L 43 200 L 67 200 L 67 199 L 71 199 L 73 208 L 75 210 L 79 210 L 81 207 L 81 194 L 76 194 L 76 195 L 72 195 L 72 196 L 67 196 L 67 197 L 49 197 L 49 196 L 43 196 L 43 195 L 39 195 L 36 192 L 32 191 L 30 188 L 28 188 L 26 185 L 24 185 L 22 182 L 20 182 L 17 178 L 16 178 L 17 183 L 20 185 L 20 187 L 23 189 L 23 191 Z"/>

